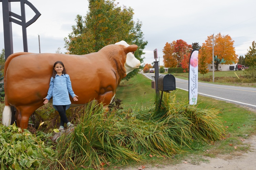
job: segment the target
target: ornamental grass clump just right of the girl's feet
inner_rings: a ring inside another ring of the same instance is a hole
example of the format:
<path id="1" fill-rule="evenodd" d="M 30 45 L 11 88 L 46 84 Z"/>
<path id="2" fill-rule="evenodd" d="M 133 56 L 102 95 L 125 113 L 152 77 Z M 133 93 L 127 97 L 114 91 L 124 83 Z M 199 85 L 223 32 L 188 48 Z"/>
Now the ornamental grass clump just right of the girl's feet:
<path id="1" fill-rule="evenodd" d="M 103 105 L 93 103 L 85 107 L 81 122 L 69 136 L 62 136 L 56 147 L 62 166 L 101 168 L 105 164 L 125 164 L 140 161 L 140 156 L 129 148 L 118 145 L 113 138 L 118 129 L 114 113 L 106 115 Z"/>

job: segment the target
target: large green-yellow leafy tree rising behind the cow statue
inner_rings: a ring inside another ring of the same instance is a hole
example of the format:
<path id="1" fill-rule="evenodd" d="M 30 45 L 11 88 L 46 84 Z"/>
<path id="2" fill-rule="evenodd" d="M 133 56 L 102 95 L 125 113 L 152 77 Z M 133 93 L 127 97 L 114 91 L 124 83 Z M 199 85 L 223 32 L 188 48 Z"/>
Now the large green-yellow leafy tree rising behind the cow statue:
<path id="1" fill-rule="evenodd" d="M 82 55 L 97 52 L 106 45 L 124 40 L 128 44 L 138 45 L 134 55 L 143 63 L 143 49 L 147 41 L 144 41 L 141 31 L 142 22 L 133 21 L 133 9 L 126 6 L 121 8 L 115 4 L 115 0 L 89 0 L 88 8 L 85 17 L 77 15 L 76 25 L 72 26 L 72 32 L 64 39 L 68 53 Z M 132 71 L 125 79 L 137 72 Z"/>

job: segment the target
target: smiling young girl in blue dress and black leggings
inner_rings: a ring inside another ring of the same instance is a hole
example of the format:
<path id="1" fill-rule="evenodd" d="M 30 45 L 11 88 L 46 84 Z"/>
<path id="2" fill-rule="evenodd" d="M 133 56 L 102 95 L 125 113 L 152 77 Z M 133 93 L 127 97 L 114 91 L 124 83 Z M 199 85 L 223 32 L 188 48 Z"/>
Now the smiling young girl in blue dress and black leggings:
<path id="1" fill-rule="evenodd" d="M 53 107 L 59 112 L 60 115 L 60 128 L 64 130 L 64 123 L 67 124 L 67 129 L 74 125 L 67 120 L 66 109 L 70 106 L 71 101 L 68 93 L 74 99 L 78 101 L 77 95 L 72 90 L 70 77 L 66 74 L 64 64 L 61 61 L 57 61 L 53 65 L 53 75 L 50 81 L 50 88 L 47 96 L 44 98 L 44 104 L 53 97 Z"/>

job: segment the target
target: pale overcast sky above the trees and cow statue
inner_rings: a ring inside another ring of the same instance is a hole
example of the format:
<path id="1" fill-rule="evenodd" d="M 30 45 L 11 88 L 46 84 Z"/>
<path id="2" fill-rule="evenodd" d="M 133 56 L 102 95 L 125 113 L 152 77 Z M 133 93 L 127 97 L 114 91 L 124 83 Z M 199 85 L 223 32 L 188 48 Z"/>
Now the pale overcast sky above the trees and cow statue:
<path id="1" fill-rule="evenodd" d="M 38 20 L 27 27 L 28 52 L 56 53 L 64 48 L 64 38 L 72 32 L 76 15 L 85 16 L 87 0 L 28 0 L 41 13 Z M 182 39 L 188 44 L 205 42 L 207 36 L 229 34 L 235 41 L 238 56 L 247 53 L 256 40 L 255 0 L 116 0 L 120 6 L 134 9 L 134 21 L 142 21 L 144 41 L 148 45 L 144 63 L 154 62 L 154 49 L 158 50 L 160 65 L 166 42 Z M 0 9 L 0 48 L 4 48 L 2 3 Z M 20 2 L 11 2 L 12 12 L 20 15 Z M 26 21 L 34 12 L 26 5 Z M 13 26 L 14 52 L 23 51 L 21 26 Z M 121 40 L 120 40 L 121 41 Z M 158 59 L 157 59 L 158 60 Z"/>

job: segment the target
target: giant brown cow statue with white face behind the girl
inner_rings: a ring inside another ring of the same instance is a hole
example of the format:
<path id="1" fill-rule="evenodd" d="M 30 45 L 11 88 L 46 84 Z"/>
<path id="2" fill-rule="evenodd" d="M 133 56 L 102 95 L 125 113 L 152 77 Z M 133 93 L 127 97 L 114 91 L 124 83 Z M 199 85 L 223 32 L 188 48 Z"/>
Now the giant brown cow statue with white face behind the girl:
<path id="1" fill-rule="evenodd" d="M 120 41 L 85 55 L 28 52 L 10 55 L 4 66 L 3 125 L 11 124 L 11 106 L 14 106 L 17 126 L 27 128 L 29 117 L 47 96 L 56 61 L 64 63 L 73 91 L 79 96 L 78 101 L 71 100 L 72 106 L 97 100 L 107 107 L 121 79 L 139 68 L 140 61 L 134 57 L 137 48 Z"/>

